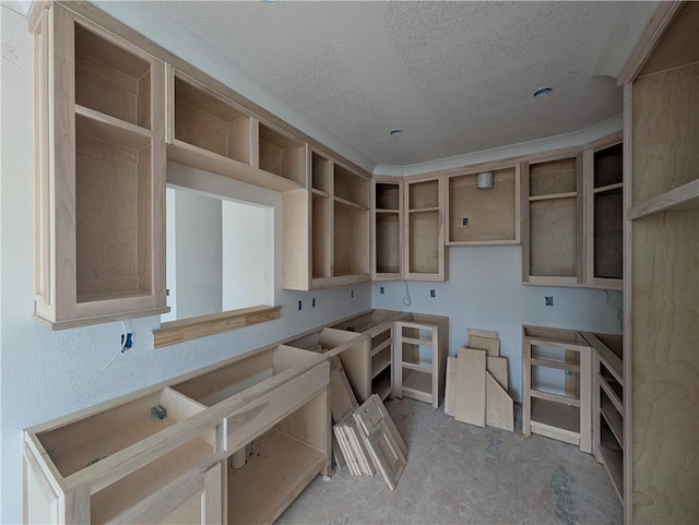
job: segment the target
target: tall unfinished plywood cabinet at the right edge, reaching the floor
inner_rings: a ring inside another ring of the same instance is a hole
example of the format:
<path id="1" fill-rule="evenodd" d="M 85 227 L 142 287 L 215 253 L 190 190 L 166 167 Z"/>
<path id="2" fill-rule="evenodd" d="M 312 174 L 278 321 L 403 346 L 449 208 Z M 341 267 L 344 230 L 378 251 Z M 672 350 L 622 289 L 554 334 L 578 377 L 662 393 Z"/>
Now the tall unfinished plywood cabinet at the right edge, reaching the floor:
<path id="1" fill-rule="evenodd" d="M 663 2 L 625 84 L 626 523 L 698 523 L 699 3 Z"/>

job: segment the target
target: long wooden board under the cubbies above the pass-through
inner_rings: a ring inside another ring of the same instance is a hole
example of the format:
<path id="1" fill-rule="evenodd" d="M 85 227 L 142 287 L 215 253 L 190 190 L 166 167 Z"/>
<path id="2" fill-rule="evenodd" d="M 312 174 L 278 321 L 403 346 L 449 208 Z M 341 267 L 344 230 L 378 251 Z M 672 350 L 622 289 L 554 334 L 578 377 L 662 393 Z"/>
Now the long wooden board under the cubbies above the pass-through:
<path id="1" fill-rule="evenodd" d="M 173 144 L 167 145 L 167 158 L 269 190 L 283 192 L 298 190 L 304 187 L 304 184 L 294 180 L 253 168 L 233 158 L 211 153 L 179 140 L 175 140 Z"/>

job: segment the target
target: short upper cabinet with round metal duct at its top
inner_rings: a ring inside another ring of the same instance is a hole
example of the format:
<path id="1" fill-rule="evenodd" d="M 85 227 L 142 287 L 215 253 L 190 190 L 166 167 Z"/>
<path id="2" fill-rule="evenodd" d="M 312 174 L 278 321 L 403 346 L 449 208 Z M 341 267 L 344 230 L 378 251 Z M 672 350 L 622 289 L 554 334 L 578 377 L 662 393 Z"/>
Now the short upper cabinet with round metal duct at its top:
<path id="1" fill-rule="evenodd" d="M 447 177 L 447 244 L 518 244 L 520 171 L 518 163 Z"/>

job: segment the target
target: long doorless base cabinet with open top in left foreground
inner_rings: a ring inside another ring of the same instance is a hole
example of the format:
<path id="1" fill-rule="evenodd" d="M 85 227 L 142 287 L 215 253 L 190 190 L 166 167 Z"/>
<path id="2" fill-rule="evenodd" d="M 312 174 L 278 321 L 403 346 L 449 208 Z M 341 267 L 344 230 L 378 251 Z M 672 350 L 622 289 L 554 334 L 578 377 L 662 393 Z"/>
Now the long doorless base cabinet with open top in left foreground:
<path id="1" fill-rule="evenodd" d="M 26 522 L 272 523 L 330 472 L 328 383 L 277 346 L 28 429 Z"/>

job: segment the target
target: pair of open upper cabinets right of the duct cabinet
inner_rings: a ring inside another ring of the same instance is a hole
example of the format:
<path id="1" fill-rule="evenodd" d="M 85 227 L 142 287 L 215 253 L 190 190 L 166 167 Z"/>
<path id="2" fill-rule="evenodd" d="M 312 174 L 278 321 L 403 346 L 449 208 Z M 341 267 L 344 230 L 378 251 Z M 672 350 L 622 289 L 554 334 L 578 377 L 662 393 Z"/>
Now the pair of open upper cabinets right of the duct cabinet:
<path id="1" fill-rule="evenodd" d="M 522 188 L 523 282 L 620 290 L 621 133 L 530 159 Z"/>

